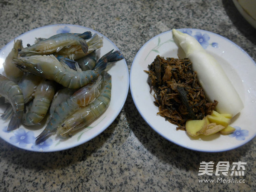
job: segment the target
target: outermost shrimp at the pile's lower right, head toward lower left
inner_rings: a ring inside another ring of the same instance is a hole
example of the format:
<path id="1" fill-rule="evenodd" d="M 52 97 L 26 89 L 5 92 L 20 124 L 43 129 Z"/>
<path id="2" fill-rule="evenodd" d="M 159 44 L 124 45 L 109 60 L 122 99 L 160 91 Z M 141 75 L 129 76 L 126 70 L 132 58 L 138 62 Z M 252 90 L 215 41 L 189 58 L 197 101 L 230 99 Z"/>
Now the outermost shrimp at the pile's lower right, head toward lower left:
<path id="1" fill-rule="evenodd" d="M 103 77 L 105 86 L 99 97 L 87 107 L 73 113 L 57 128 L 57 133 L 62 137 L 71 136 L 74 131 L 89 125 L 108 108 L 111 100 L 111 76 L 105 73 Z"/>

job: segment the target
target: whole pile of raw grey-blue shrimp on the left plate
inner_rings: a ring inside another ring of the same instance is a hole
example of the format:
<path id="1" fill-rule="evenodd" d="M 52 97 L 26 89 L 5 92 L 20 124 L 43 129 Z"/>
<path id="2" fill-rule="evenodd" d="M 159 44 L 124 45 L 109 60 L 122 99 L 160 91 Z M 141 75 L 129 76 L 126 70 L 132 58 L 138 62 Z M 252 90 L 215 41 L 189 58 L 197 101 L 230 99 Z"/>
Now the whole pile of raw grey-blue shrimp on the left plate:
<path id="1" fill-rule="evenodd" d="M 110 50 L 97 59 L 102 46 L 103 37 L 91 32 L 36 38 L 27 47 L 14 41 L 3 64 L 5 75 L 0 74 L 0 96 L 8 103 L 1 116 L 10 119 L 7 130 L 45 121 L 35 141 L 39 144 L 55 133 L 72 136 L 104 113 L 111 100 L 111 75 L 105 69 L 124 57 Z"/>

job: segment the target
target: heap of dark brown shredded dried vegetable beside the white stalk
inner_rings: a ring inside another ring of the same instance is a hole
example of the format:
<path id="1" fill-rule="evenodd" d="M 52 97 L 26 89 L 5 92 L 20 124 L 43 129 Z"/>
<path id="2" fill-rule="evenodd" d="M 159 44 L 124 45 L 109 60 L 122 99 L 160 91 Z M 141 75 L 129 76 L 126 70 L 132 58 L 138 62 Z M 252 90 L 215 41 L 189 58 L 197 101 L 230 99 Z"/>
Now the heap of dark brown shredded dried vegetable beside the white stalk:
<path id="1" fill-rule="evenodd" d="M 191 69 L 189 59 L 163 58 L 157 55 L 148 65 L 149 85 L 154 90 L 157 114 L 185 130 L 189 119 L 203 119 L 218 104 L 209 102 Z"/>

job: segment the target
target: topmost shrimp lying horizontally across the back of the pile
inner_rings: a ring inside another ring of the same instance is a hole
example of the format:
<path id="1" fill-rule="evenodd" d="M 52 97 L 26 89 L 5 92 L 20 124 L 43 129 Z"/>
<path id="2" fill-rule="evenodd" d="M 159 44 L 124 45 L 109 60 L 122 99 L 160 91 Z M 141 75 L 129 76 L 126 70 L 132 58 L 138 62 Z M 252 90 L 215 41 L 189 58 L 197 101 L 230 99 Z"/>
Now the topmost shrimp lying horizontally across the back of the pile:
<path id="1" fill-rule="evenodd" d="M 59 52 L 61 49 L 73 45 L 79 46 L 84 53 L 88 51 L 88 45 L 85 39 L 72 33 L 61 33 L 38 41 L 29 47 L 23 48 L 19 54 L 21 57 L 31 55 L 48 55 L 53 52 Z"/>

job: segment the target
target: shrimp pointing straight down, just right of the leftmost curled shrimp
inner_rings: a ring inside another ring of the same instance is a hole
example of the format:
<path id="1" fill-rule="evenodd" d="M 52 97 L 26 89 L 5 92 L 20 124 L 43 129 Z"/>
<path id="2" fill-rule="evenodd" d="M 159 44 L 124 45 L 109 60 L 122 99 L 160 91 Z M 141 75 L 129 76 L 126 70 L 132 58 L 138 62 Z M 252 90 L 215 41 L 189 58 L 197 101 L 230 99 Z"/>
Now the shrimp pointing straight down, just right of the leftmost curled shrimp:
<path id="1" fill-rule="evenodd" d="M 35 98 L 29 110 L 23 114 L 24 125 L 35 125 L 44 119 L 55 94 L 55 82 L 44 79 L 35 90 Z"/>

